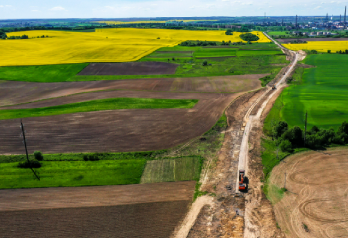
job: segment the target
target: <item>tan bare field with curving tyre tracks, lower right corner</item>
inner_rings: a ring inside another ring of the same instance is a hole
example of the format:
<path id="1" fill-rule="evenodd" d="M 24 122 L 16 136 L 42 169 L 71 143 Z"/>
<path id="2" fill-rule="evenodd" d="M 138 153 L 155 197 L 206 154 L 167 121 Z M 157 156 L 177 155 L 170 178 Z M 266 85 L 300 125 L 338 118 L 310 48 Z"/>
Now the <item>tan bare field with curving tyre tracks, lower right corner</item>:
<path id="1" fill-rule="evenodd" d="M 310 151 L 286 158 L 269 178 L 269 195 L 286 237 L 348 237 L 348 149 Z M 286 188 L 282 197 L 279 187 Z"/>

